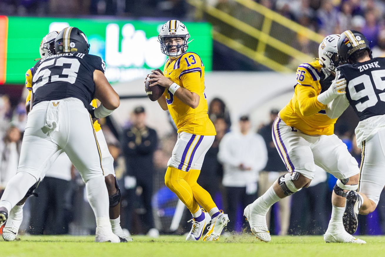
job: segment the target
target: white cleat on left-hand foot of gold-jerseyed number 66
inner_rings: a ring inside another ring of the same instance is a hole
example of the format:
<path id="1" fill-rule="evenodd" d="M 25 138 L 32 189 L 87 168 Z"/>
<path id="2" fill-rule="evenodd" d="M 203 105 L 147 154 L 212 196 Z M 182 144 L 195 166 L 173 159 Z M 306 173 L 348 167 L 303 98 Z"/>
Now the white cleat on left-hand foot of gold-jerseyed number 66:
<path id="1" fill-rule="evenodd" d="M 270 242 L 271 236 L 266 224 L 266 216 L 256 217 L 258 213 L 253 213 L 251 206 L 248 205 L 244 208 L 243 215 L 249 221 L 251 233 L 263 242 Z M 258 222 L 259 221 L 259 222 Z"/>

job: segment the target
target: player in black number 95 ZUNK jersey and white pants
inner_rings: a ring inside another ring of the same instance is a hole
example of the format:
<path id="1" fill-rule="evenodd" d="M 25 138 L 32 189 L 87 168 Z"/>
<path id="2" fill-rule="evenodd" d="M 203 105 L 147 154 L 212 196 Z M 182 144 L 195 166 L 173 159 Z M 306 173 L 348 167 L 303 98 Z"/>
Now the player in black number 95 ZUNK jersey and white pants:
<path id="1" fill-rule="evenodd" d="M 346 196 L 343 223 L 348 233 L 357 230 L 357 215 L 368 215 L 378 204 L 385 186 L 385 58 L 372 58 L 369 42 L 362 33 L 346 30 L 337 45 L 341 65 L 336 76 L 345 78 L 346 94 L 329 104 L 337 117 L 351 105 L 360 122 L 355 129 L 362 148 L 358 193 Z"/>

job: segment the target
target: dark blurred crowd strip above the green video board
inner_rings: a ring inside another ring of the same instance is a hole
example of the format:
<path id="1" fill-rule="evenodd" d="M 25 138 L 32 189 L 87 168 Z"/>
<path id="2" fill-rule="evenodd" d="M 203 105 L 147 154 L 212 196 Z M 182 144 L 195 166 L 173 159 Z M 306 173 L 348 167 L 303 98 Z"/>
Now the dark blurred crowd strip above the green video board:
<path id="1" fill-rule="evenodd" d="M 185 0 L 2 0 L 0 15 L 78 17 L 110 15 L 174 17 L 187 12 Z"/>

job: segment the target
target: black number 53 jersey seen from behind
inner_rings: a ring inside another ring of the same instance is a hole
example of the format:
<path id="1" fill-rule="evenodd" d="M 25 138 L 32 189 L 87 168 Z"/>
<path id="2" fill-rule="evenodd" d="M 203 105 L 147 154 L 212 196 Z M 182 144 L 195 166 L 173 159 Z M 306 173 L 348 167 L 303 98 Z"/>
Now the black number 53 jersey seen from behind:
<path id="1" fill-rule="evenodd" d="M 88 108 L 94 99 L 95 69 L 104 73 L 102 58 L 78 52 L 55 54 L 38 61 L 32 73 L 33 105 L 75 97 Z"/>

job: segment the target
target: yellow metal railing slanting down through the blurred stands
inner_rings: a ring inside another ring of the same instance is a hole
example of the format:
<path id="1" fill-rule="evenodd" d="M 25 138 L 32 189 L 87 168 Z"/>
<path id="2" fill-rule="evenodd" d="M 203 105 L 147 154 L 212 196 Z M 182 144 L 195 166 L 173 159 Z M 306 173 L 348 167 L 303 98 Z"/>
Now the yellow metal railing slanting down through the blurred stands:
<path id="1" fill-rule="evenodd" d="M 252 0 L 233 0 L 235 13 L 187 0 L 213 24 L 215 41 L 269 69 L 290 72 L 315 57 L 323 36 Z M 307 52 L 307 53 L 306 53 Z"/>

